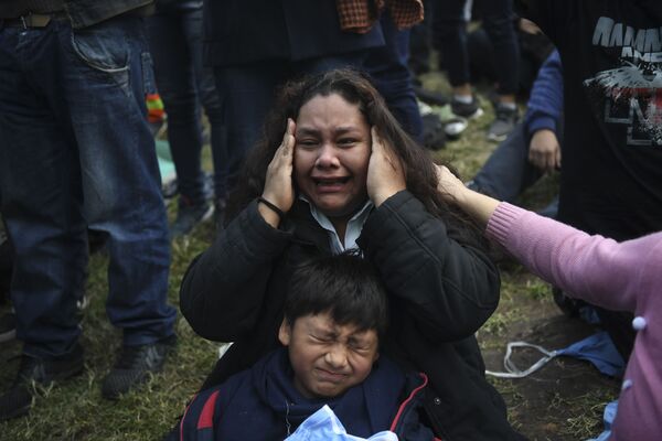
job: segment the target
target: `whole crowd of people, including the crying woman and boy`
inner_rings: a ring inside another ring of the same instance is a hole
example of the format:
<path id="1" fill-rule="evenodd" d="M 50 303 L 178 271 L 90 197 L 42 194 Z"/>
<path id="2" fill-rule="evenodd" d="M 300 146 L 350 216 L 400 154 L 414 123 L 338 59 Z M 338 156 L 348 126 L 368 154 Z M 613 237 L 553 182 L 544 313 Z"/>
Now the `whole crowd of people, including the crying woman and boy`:
<path id="1" fill-rule="evenodd" d="M 408 57 L 413 26 L 427 26 L 450 108 L 480 114 L 471 1 L 0 4 L 0 245 L 22 343 L 0 421 L 30 411 L 32 383 L 84 369 L 90 234 L 122 338 L 103 396 L 161 370 L 177 344 L 170 241 L 214 213 L 180 310 L 201 337 L 234 343 L 168 439 L 296 437 L 324 406 L 361 438 L 525 439 L 476 338 L 500 297 L 489 241 L 596 308 L 629 361 L 610 439 L 656 439 L 662 6 L 522 3 L 515 17 L 512 0 L 477 1 L 496 60 L 485 136 L 502 143 L 466 184 L 423 147 Z M 519 122 L 523 18 L 555 51 Z M 170 226 L 145 100 L 157 90 L 178 175 Z M 549 217 L 511 205 L 555 171 Z"/>

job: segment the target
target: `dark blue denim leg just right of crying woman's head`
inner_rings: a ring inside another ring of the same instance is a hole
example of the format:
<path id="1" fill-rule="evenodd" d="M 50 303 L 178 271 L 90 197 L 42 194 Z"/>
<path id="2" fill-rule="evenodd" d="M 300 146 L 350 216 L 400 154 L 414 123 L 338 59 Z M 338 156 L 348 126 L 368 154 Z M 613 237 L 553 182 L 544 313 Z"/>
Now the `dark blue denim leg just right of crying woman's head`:
<path id="1" fill-rule="evenodd" d="M 386 44 L 369 52 L 365 69 L 374 78 L 395 118 L 412 138 L 421 142 L 423 119 L 408 67 L 410 32 L 398 31 L 388 13 L 383 13 L 380 22 Z"/>

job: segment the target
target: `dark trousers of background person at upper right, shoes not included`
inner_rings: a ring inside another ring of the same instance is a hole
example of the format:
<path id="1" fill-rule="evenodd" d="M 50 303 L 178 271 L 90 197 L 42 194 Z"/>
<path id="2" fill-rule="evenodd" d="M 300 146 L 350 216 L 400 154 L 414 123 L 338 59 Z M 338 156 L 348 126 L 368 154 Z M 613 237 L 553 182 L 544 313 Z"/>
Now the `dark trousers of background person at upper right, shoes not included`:
<path id="1" fill-rule="evenodd" d="M 433 39 L 441 52 L 451 86 L 470 83 L 469 51 L 465 0 L 434 2 Z M 512 0 L 487 0 L 480 3 L 482 26 L 490 35 L 498 62 L 499 94 L 517 93 L 520 46 L 513 24 Z"/>

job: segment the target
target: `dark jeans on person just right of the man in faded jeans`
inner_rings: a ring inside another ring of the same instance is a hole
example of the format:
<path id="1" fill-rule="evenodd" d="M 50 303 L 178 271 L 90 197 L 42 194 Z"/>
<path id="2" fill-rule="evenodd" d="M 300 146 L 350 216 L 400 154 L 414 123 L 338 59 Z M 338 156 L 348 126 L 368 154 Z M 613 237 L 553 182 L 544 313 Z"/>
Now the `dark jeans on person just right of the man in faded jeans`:
<path id="1" fill-rule="evenodd" d="M 151 53 L 159 94 L 168 114 L 168 141 L 178 178 L 178 189 L 190 203 L 205 202 L 201 108 L 211 126 L 216 197 L 224 198 L 222 179 L 226 164 L 223 107 L 214 74 L 202 64 L 202 8 L 171 8 L 148 19 Z"/>

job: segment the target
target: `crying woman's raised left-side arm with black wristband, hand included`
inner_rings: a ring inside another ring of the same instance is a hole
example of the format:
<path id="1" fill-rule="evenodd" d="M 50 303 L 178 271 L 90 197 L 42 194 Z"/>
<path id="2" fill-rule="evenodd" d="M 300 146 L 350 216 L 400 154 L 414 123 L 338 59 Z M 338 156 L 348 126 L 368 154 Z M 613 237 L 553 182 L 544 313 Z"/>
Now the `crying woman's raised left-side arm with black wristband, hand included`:
<path id="1" fill-rule="evenodd" d="M 295 121 L 288 119 L 261 196 L 239 213 L 184 275 L 180 309 L 205 338 L 234 342 L 255 329 L 271 267 L 291 237 L 277 228 L 295 201 Z"/>

